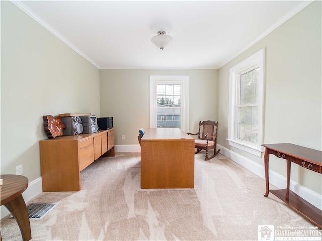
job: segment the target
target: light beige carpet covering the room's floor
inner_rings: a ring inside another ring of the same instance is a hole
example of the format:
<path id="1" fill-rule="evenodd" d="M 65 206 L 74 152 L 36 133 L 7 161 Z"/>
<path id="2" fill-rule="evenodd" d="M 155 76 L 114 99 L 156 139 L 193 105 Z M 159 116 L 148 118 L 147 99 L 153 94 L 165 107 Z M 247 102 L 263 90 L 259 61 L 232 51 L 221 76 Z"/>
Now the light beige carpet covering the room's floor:
<path id="1" fill-rule="evenodd" d="M 59 202 L 30 220 L 32 240 L 258 240 L 258 225 L 314 226 L 273 194 L 265 198 L 260 177 L 204 155 L 195 155 L 194 189 L 141 189 L 140 153 L 101 157 L 82 171 L 82 191 L 29 202 Z M 1 232 L 21 240 L 14 219 L 2 219 Z"/>

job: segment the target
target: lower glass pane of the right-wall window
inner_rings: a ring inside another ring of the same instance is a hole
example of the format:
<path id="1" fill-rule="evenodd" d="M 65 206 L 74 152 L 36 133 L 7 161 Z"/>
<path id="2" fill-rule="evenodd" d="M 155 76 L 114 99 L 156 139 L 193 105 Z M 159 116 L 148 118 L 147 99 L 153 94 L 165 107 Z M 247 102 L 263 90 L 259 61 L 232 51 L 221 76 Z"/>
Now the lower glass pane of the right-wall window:
<path id="1" fill-rule="evenodd" d="M 258 107 L 238 107 L 237 138 L 257 143 Z"/>

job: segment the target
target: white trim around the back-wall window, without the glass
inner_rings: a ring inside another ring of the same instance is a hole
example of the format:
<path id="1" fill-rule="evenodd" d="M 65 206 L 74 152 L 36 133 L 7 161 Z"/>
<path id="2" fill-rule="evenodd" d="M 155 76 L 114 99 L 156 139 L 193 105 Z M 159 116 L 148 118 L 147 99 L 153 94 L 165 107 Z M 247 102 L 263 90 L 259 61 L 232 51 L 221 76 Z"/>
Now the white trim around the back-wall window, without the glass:
<path id="1" fill-rule="evenodd" d="M 150 128 L 156 128 L 156 85 L 181 84 L 181 130 L 188 132 L 189 128 L 189 75 L 150 75 Z"/>

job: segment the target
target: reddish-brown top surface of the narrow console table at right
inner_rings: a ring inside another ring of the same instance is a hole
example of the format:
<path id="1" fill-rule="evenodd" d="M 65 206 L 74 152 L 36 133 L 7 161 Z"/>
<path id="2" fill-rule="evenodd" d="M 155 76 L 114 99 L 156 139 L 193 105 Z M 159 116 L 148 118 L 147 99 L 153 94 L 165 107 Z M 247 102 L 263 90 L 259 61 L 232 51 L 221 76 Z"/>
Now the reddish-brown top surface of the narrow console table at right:
<path id="1" fill-rule="evenodd" d="M 307 147 L 302 147 L 298 146 L 292 143 L 275 143 L 275 144 L 263 144 L 262 146 L 277 151 L 281 152 L 284 154 L 287 154 L 289 156 L 301 159 L 301 160 L 306 160 L 313 162 L 319 166 L 322 166 L 322 152 L 307 148 Z"/>

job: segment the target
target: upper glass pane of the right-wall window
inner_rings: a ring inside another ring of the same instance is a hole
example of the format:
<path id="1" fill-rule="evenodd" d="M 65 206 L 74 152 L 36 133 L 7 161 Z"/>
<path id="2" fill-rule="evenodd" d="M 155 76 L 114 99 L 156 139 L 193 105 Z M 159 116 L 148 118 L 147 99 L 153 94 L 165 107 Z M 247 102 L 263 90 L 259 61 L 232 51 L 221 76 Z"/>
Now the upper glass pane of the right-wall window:
<path id="1" fill-rule="evenodd" d="M 240 104 L 258 103 L 259 67 L 240 75 Z"/>

